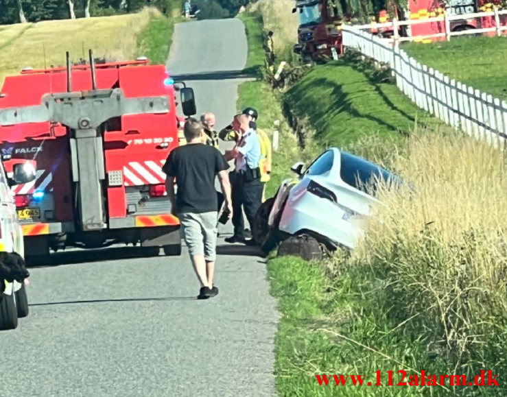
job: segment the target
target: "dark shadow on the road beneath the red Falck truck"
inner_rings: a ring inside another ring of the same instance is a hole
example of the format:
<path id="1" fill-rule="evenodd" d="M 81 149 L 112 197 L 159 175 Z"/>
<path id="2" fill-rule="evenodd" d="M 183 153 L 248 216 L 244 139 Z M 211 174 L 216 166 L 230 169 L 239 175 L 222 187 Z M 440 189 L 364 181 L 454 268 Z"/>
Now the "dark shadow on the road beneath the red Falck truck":
<path id="1" fill-rule="evenodd" d="M 66 252 L 51 253 L 48 257 L 26 258 L 27 267 L 53 267 L 79 263 L 116 261 L 132 258 L 152 258 L 158 256 L 159 248 L 118 247 L 97 250 L 72 249 Z"/>

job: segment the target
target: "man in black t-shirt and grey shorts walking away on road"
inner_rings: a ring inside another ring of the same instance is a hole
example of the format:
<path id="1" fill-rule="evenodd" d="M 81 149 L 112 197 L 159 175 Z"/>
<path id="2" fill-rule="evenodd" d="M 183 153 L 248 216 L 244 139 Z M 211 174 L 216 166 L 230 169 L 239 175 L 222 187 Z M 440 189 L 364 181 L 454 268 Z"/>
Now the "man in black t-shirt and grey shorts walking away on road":
<path id="1" fill-rule="evenodd" d="M 172 213 L 180 219 L 193 268 L 201 284 L 198 299 L 218 293 L 213 286 L 217 245 L 217 193 L 215 176 L 220 180 L 224 202 L 232 217 L 231 184 L 226 170 L 229 165 L 220 151 L 202 143 L 204 127 L 190 118 L 185 122 L 187 145 L 173 149 L 163 167 L 165 186 Z M 174 181 L 178 193 L 174 193 Z"/>

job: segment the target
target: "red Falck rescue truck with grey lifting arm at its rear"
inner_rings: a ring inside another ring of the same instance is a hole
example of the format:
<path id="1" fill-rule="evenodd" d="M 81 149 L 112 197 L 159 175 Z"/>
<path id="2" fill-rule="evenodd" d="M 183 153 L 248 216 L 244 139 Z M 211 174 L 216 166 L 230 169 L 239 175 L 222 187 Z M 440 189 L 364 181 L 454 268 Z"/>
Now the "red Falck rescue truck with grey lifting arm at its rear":
<path id="1" fill-rule="evenodd" d="M 181 252 L 163 164 L 178 146 L 176 91 L 196 114 L 192 88 L 146 58 L 5 78 L 0 150 L 6 171 L 30 161 L 36 179 L 13 187 L 27 256 L 66 246 L 140 243 Z"/>

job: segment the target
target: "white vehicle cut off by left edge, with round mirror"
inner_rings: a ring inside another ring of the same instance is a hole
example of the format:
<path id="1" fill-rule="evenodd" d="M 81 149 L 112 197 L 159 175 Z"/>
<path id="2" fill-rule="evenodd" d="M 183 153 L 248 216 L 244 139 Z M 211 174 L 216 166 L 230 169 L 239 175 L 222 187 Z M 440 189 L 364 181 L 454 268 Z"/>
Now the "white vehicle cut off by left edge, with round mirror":
<path id="1" fill-rule="evenodd" d="M 0 161 L 0 330 L 16 328 L 18 318 L 28 315 L 23 230 L 10 188 L 35 180 L 36 169 L 23 162 L 14 164 L 12 171 L 8 176 Z"/>

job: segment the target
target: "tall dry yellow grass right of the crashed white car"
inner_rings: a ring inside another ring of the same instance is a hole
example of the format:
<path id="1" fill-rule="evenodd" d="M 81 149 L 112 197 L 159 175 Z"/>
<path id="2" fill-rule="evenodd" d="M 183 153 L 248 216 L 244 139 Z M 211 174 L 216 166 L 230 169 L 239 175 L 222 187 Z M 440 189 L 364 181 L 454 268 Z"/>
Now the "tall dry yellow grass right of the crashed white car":
<path id="1" fill-rule="evenodd" d="M 415 191 L 378 194 L 355 265 L 387 269 L 400 323 L 455 372 L 506 370 L 507 156 L 419 131 L 390 159 Z M 505 373 L 505 372 L 500 372 Z"/>

